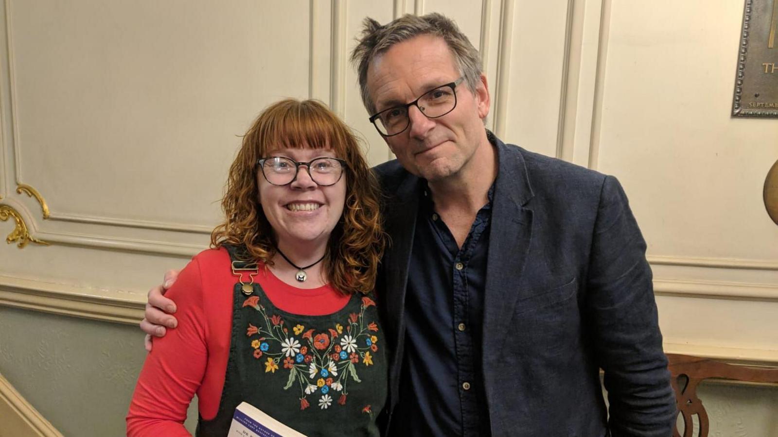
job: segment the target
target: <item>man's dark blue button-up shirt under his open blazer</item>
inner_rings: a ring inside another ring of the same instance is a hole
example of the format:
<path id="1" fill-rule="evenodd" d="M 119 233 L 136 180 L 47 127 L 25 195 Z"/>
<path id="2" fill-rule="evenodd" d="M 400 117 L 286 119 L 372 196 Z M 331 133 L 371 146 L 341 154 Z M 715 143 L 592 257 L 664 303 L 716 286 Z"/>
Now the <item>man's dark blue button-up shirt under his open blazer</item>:
<path id="1" fill-rule="evenodd" d="M 489 203 L 461 248 L 422 194 L 405 297 L 405 352 L 393 430 L 489 435 L 483 386 L 483 309 Z"/>

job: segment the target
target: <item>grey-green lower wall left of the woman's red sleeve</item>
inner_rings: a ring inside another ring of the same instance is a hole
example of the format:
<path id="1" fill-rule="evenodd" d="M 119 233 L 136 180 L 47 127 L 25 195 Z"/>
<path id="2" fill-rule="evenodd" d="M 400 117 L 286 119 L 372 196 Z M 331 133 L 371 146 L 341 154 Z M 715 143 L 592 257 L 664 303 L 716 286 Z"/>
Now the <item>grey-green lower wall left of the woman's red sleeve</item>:
<path id="1" fill-rule="evenodd" d="M 63 435 L 125 435 L 144 359 L 138 327 L 0 306 L 0 373 Z"/>

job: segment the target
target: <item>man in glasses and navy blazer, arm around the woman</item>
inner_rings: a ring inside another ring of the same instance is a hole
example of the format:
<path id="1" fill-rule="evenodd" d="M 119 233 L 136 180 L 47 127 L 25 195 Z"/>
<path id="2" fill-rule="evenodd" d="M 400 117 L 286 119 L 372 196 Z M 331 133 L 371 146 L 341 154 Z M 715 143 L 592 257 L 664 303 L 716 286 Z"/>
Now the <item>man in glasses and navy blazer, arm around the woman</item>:
<path id="1" fill-rule="evenodd" d="M 486 131 L 478 51 L 439 14 L 366 19 L 352 61 L 398 158 L 375 169 L 390 434 L 671 435 L 646 245 L 615 178 Z"/>

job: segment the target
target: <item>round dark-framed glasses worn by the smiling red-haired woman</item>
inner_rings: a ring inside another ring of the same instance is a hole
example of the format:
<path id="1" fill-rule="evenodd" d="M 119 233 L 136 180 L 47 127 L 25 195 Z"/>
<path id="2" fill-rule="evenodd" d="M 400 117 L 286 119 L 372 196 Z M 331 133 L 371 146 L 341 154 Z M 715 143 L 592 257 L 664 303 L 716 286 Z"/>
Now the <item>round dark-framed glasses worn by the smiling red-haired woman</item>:
<path id="1" fill-rule="evenodd" d="M 307 163 L 300 163 L 285 156 L 268 156 L 257 160 L 257 165 L 262 170 L 262 176 L 273 185 L 289 185 L 297 179 L 300 166 L 305 166 L 308 176 L 320 187 L 329 187 L 338 184 L 345 170 L 345 159 L 317 158 Z"/>

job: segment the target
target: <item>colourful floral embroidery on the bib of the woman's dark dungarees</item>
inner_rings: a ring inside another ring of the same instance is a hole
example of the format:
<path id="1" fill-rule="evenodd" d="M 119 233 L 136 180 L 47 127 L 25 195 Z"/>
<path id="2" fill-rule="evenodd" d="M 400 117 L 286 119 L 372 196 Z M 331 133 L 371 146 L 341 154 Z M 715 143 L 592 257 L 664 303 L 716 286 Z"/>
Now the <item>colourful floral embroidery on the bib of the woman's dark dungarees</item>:
<path id="1" fill-rule="evenodd" d="M 310 407 L 309 395 L 317 394 L 320 395 L 319 407 L 327 409 L 333 403 L 330 392 L 333 392 L 332 396 L 338 394 L 338 405 L 345 405 L 348 384 L 362 382 L 357 376 L 356 364 L 361 361 L 366 366 L 373 365 L 375 356 L 371 352 L 377 351 L 379 340 L 373 333 L 378 332 L 378 325 L 365 320 L 365 310 L 376 302 L 363 296 L 361 304 L 359 313 L 350 313 L 346 323 L 335 323 L 334 327 L 317 331 L 306 330 L 300 323 L 286 323 L 278 314 L 268 315 L 259 296 L 244 301 L 243 307 L 251 307 L 261 315 L 261 323 L 258 326 L 249 323 L 246 330 L 248 337 L 258 336 L 251 340 L 254 358 L 267 357 L 263 363 L 265 373 L 275 373 L 279 364 L 285 375 L 286 370 L 289 371 L 283 388 L 299 388 L 300 410 Z M 370 405 L 363 408 L 363 412 L 373 414 Z"/>

